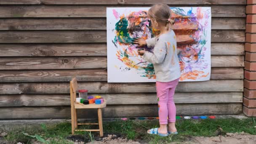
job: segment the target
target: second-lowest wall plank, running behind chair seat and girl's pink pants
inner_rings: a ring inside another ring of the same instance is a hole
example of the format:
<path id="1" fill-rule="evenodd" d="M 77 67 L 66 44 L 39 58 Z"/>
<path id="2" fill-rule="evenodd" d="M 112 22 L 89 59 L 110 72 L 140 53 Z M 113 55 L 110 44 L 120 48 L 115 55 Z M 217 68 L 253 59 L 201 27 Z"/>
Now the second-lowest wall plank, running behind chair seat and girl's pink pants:
<path id="1" fill-rule="evenodd" d="M 97 95 L 97 94 L 90 94 Z M 156 93 L 102 93 L 107 104 L 157 104 Z M 175 93 L 176 104 L 242 103 L 242 92 Z M 0 107 L 69 106 L 69 94 L 0 95 Z"/>

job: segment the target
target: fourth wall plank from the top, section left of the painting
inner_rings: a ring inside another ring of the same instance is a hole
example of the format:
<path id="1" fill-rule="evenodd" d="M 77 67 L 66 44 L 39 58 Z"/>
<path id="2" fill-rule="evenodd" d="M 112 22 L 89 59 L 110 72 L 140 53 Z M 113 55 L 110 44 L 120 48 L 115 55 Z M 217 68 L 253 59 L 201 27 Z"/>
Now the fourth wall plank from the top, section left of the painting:
<path id="1" fill-rule="evenodd" d="M 106 31 L 0 31 L 0 43 L 106 43 Z"/>

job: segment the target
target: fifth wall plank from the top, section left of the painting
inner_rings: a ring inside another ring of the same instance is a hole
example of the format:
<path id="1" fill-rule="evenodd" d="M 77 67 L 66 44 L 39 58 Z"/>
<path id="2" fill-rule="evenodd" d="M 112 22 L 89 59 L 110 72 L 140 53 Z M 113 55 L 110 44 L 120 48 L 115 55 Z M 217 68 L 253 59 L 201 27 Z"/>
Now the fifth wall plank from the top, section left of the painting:
<path id="1" fill-rule="evenodd" d="M 0 48 L 0 56 L 107 56 L 106 43 L 0 44 Z"/>

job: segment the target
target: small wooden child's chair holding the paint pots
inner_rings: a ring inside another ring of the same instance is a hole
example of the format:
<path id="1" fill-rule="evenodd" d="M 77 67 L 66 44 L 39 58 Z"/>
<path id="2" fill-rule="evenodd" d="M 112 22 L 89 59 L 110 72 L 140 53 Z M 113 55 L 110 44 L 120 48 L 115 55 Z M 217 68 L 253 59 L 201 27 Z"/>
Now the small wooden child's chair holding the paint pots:
<path id="1" fill-rule="evenodd" d="M 73 78 L 70 81 L 70 104 L 71 104 L 71 125 L 72 134 L 75 131 L 99 131 L 100 136 L 103 136 L 103 125 L 102 125 L 102 108 L 106 107 L 106 101 L 103 104 L 81 104 L 76 102 L 76 91 L 77 91 L 77 79 Z M 77 123 L 77 109 L 98 109 L 99 123 Z M 99 129 L 96 130 L 77 130 L 77 125 L 99 125 Z"/>

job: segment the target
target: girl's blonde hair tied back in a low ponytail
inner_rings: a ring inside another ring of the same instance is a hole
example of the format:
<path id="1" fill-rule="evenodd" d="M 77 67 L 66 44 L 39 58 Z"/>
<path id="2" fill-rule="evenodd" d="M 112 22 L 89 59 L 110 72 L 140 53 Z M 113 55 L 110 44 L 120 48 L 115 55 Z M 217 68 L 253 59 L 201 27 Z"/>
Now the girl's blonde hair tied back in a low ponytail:
<path id="1" fill-rule="evenodd" d="M 170 29 L 175 22 L 171 19 L 171 9 L 163 3 L 153 5 L 148 11 L 148 16 L 157 23 L 165 24 L 166 29 Z"/>

